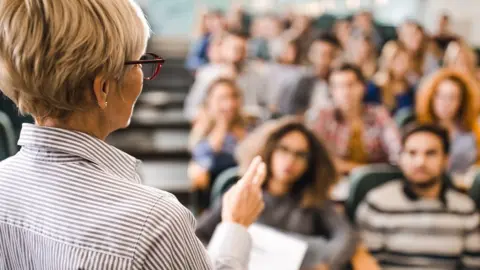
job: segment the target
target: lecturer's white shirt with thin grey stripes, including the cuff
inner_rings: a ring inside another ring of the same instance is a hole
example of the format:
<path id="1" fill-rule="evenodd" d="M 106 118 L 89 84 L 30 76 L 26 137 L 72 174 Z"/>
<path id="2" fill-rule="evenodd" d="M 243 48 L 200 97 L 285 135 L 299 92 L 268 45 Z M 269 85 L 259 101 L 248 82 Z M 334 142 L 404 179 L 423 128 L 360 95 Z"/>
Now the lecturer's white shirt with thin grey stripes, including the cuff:
<path id="1" fill-rule="evenodd" d="M 19 145 L 0 163 L 0 269 L 213 269 L 193 215 L 141 185 L 135 158 L 84 133 L 30 124 Z M 243 227 L 224 223 L 215 239 L 215 269 L 246 268 Z"/>

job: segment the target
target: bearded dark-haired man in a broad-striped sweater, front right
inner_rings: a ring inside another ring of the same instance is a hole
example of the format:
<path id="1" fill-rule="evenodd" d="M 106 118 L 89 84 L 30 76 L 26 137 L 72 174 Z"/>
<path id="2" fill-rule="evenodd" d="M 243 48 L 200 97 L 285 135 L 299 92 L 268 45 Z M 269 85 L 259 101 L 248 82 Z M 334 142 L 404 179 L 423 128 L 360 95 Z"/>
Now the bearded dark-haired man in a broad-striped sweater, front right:
<path id="1" fill-rule="evenodd" d="M 420 125 L 402 140 L 405 179 L 367 194 L 356 213 L 363 243 L 382 269 L 480 269 L 479 215 L 442 175 L 448 131 Z"/>

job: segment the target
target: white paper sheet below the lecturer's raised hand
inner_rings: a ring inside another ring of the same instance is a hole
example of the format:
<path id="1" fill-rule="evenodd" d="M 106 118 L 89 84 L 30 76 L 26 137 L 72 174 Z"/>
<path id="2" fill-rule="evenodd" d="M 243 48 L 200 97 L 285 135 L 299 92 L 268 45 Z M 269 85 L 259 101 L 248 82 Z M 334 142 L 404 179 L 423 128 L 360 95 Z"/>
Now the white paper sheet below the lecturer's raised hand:
<path id="1" fill-rule="evenodd" d="M 307 252 L 306 242 L 271 227 L 253 224 L 249 270 L 299 270 Z"/>

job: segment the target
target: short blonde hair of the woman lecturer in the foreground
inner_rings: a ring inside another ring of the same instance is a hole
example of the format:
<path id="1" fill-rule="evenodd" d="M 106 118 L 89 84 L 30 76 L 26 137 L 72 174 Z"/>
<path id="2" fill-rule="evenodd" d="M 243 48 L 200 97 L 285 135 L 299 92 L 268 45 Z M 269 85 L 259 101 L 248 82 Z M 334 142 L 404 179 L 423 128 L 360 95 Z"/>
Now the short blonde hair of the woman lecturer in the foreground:
<path id="1" fill-rule="evenodd" d="M 24 114 L 66 117 L 96 76 L 121 83 L 149 35 L 133 0 L 1 1 L 0 89 Z"/>

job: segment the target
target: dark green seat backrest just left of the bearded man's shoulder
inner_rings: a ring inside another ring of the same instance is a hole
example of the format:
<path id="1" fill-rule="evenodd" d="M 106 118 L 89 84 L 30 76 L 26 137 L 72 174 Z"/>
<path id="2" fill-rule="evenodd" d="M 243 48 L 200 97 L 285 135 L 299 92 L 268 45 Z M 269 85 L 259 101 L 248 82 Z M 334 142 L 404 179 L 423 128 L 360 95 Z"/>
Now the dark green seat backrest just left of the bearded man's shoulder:
<path id="1" fill-rule="evenodd" d="M 355 169 L 350 174 L 350 192 L 345 205 L 347 214 L 353 221 L 357 207 L 367 193 L 392 180 L 403 177 L 402 172 L 388 164 L 374 164 Z"/>

